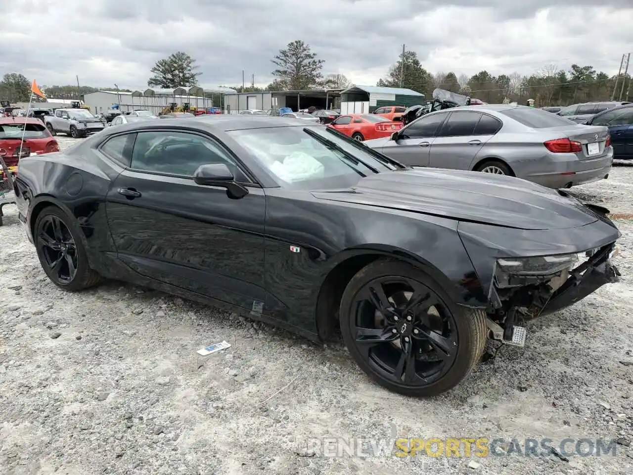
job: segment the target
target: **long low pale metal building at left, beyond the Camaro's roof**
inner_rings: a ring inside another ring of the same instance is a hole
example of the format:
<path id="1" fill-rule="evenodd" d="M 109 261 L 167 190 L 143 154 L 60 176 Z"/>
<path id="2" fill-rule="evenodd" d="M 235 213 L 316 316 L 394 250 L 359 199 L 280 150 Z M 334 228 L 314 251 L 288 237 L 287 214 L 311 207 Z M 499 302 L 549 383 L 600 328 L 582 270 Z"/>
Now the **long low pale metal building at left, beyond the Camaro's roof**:
<path id="1" fill-rule="evenodd" d="M 205 98 L 205 94 L 235 94 L 234 89 L 228 87 L 203 88 L 198 86 L 176 87 L 175 89 L 153 89 L 134 92 L 97 91 L 84 94 L 85 105 L 92 113 L 99 114 L 118 104 L 122 111 L 147 109 L 158 115 L 165 107 L 172 104 L 196 108 L 222 106 L 213 104 L 212 98 Z"/>

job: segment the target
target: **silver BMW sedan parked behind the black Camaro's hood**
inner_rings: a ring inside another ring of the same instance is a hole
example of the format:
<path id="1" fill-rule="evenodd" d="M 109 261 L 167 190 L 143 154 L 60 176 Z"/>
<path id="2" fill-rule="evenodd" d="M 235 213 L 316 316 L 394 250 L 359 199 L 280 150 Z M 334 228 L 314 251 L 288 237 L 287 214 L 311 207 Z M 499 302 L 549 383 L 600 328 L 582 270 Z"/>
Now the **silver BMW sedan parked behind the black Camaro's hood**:
<path id="1" fill-rule="evenodd" d="M 512 175 L 550 188 L 605 179 L 613 163 L 606 127 L 526 106 L 436 111 L 365 145 L 404 165 Z"/>

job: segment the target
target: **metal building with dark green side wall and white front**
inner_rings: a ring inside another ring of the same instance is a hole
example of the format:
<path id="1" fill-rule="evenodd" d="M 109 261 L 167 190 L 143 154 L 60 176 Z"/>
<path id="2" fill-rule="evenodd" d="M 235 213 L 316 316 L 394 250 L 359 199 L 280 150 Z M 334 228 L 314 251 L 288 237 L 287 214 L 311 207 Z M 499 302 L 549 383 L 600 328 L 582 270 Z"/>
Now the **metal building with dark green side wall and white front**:
<path id="1" fill-rule="evenodd" d="M 364 114 L 384 106 L 425 105 L 424 94 L 402 87 L 352 85 L 341 92 L 342 114 Z"/>

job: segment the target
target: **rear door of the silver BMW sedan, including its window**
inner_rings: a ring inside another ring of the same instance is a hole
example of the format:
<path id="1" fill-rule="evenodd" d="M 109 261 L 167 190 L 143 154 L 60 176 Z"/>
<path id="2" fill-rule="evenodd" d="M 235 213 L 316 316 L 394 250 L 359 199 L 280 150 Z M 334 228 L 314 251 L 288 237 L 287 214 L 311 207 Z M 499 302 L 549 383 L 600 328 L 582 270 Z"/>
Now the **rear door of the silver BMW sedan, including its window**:
<path id="1" fill-rule="evenodd" d="M 492 137 L 475 135 L 481 117 L 476 111 L 451 112 L 430 146 L 429 166 L 469 170 L 473 158 Z"/>

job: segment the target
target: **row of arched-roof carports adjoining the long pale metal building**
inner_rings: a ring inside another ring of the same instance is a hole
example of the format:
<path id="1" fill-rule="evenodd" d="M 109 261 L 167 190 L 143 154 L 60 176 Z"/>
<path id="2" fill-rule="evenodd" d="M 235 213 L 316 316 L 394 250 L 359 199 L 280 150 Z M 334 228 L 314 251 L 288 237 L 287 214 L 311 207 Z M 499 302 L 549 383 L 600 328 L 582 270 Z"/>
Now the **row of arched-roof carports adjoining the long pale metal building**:
<path id="1" fill-rule="evenodd" d="M 152 108 L 153 110 L 170 107 L 172 105 L 183 107 L 211 107 L 214 96 L 220 96 L 216 106 L 222 107 L 223 96 L 225 94 L 235 94 L 235 89 L 229 87 L 174 87 L 173 89 L 160 89 L 148 87 L 144 91 L 132 92 L 132 103 L 134 98 L 139 98 L 139 106 Z M 211 96 L 210 98 L 208 96 Z"/>

